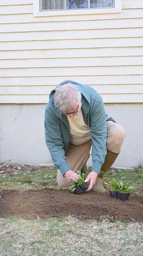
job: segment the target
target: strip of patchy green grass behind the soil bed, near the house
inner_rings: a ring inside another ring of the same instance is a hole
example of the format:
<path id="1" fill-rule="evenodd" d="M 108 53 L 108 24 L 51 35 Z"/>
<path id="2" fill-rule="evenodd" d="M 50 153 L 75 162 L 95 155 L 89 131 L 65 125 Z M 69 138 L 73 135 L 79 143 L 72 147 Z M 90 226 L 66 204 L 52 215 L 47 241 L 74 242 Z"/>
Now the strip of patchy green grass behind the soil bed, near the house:
<path id="1" fill-rule="evenodd" d="M 91 168 L 87 168 L 87 173 L 91 171 Z M 138 193 L 142 191 L 142 175 L 143 170 L 109 170 L 104 175 L 104 187 L 107 191 L 110 190 L 110 181 L 123 181 L 126 184 L 130 184 L 137 190 Z M 32 174 L 29 171 L 21 171 L 15 174 L 3 174 L 0 175 L 0 189 L 41 189 L 44 187 L 59 188 L 56 181 L 57 169 L 55 167 L 42 168 Z M 25 183 L 24 179 L 31 179 L 31 183 Z"/>

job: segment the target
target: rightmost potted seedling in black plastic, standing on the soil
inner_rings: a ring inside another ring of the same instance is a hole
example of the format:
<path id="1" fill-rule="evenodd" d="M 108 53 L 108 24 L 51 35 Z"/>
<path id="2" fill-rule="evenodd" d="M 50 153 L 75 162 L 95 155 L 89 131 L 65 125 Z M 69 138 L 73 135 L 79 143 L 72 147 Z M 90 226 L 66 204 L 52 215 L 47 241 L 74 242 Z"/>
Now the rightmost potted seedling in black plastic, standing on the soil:
<path id="1" fill-rule="evenodd" d="M 120 183 L 118 183 L 118 199 L 122 201 L 128 200 L 132 189 L 133 186 L 127 186 L 122 181 L 120 181 Z M 133 190 L 132 192 L 134 191 L 136 190 Z"/>

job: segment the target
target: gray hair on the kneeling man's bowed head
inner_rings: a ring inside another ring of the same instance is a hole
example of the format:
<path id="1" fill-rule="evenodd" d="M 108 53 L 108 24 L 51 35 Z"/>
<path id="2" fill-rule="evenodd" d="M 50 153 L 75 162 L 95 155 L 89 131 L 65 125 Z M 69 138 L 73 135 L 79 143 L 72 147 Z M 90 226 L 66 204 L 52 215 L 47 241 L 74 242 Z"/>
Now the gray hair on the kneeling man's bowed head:
<path id="1" fill-rule="evenodd" d="M 74 84 L 62 84 L 55 90 L 54 103 L 60 110 L 69 112 L 73 105 L 81 103 L 81 97 L 81 92 Z"/>

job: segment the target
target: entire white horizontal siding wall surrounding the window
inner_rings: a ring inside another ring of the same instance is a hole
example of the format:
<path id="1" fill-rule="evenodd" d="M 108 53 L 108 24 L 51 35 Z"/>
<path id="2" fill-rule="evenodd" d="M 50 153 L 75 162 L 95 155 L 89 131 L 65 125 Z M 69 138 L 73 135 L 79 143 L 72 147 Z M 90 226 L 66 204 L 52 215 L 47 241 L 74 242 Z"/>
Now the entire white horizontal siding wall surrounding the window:
<path id="1" fill-rule="evenodd" d="M 37 18 L 32 3 L 0 3 L 1 103 L 47 103 L 66 79 L 105 103 L 143 102 L 143 1 L 122 0 L 117 14 Z"/>

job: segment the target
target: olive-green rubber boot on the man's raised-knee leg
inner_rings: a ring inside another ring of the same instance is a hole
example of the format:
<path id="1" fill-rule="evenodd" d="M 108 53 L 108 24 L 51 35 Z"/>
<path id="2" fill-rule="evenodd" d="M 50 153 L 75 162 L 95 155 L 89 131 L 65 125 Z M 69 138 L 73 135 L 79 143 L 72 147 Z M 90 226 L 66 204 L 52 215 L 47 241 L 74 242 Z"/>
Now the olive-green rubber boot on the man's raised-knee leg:
<path id="1" fill-rule="evenodd" d="M 118 155 L 119 153 L 114 153 L 107 149 L 107 155 L 105 157 L 104 164 L 102 164 L 101 166 L 100 174 L 96 179 L 96 183 L 92 188 L 92 192 L 101 192 L 101 193 L 106 192 L 106 189 L 103 187 L 103 176 L 104 176 L 104 173 L 106 173 L 110 169 L 110 167 L 115 162 Z"/>

